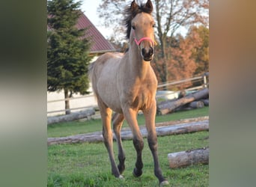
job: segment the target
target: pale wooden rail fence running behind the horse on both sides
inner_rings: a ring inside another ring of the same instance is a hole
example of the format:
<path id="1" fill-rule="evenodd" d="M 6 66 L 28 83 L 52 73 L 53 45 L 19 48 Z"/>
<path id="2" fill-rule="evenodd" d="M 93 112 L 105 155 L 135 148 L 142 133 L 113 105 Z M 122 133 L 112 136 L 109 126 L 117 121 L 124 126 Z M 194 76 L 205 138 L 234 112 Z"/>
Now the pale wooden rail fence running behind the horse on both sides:
<path id="1" fill-rule="evenodd" d="M 163 84 L 159 84 L 157 86 L 157 88 L 159 90 L 159 88 L 167 88 L 169 86 L 180 85 L 180 84 L 183 84 L 185 82 L 197 82 L 197 81 L 198 82 L 204 82 L 201 86 L 197 86 L 197 87 L 193 87 L 193 88 L 187 88 L 187 89 L 184 90 L 184 91 L 196 91 L 198 89 L 208 87 L 209 83 L 207 82 L 207 76 L 209 76 L 209 73 L 204 73 L 203 76 L 195 76 L 195 77 L 192 77 L 192 78 L 189 78 L 189 79 L 182 79 L 182 80 L 173 81 L 173 82 L 165 82 Z M 156 98 L 161 97 L 161 96 L 169 96 L 171 94 L 177 94 L 179 92 L 180 91 L 174 91 L 173 93 L 161 94 L 161 95 L 156 96 Z M 70 98 L 67 98 L 67 99 L 54 99 L 54 100 L 47 101 L 47 103 L 62 102 L 62 101 L 73 100 L 73 99 L 85 99 L 85 98 L 89 98 L 89 97 L 94 97 L 94 94 L 90 94 L 90 95 L 86 95 L 86 96 L 70 97 Z M 64 112 L 64 111 L 75 111 L 75 110 L 81 110 L 81 109 L 92 108 L 92 107 L 94 107 L 94 105 L 88 105 L 88 106 L 84 106 L 84 107 L 76 107 L 76 108 L 70 108 L 70 109 L 61 109 L 61 110 L 55 110 L 55 111 L 47 111 L 47 114 Z"/>

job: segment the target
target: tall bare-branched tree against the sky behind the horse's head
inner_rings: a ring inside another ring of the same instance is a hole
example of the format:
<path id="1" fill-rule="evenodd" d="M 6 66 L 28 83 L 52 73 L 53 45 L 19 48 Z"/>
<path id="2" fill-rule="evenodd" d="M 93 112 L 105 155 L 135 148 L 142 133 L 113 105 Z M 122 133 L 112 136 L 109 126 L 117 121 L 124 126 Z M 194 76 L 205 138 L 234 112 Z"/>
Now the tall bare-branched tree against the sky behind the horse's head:
<path id="1" fill-rule="evenodd" d="M 143 1 L 144 2 L 144 1 Z M 162 63 L 153 61 L 160 76 L 160 82 L 167 82 L 168 62 L 171 55 L 168 55 L 168 37 L 174 37 L 181 27 L 189 28 L 190 25 L 202 24 L 208 26 L 209 0 L 154 0 L 152 1 L 156 19 L 156 39 L 159 42 L 159 54 Z M 103 0 L 98 8 L 100 17 L 105 19 L 106 26 L 115 28 L 117 31 L 124 31 L 124 22 L 121 19 L 124 7 L 127 3 L 117 0 Z"/>

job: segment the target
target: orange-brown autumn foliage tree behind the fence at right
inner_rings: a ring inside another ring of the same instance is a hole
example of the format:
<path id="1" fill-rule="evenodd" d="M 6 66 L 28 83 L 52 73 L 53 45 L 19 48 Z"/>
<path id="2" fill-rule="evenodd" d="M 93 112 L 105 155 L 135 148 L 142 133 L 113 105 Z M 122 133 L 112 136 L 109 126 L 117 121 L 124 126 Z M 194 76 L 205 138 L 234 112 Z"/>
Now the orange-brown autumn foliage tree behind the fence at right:
<path id="1" fill-rule="evenodd" d="M 180 34 L 167 37 L 165 49 L 170 79 L 188 79 L 209 71 L 209 29 L 203 25 L 198 27 L 192 25 L 186 37 Z M 158 66 L 156 66 L 156 63 L 152 64 L 155 72 L 159 72 L 156 68 L 163 64 L 160 50 L 160 47 L 156 46 L 154 61 L 157 61 Z M 163 76 L 161 73 L 156 73 L 156 75 L 158 79 Z M 192 83 L 187 82 L 186 85 L 180 85 L 180 88 L 177 89 L 183 89 L 190 85 Z"/>

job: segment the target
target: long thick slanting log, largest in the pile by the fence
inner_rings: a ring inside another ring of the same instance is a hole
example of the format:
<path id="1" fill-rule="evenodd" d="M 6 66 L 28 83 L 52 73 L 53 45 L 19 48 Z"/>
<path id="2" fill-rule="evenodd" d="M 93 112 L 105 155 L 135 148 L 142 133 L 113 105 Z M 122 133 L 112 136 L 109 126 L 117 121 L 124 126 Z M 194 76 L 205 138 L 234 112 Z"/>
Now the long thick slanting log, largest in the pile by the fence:
<path id="1" fill-rule="evenodd" d="M 204 88 L 201 91 L 197 91 L 195 93 L 190 93 L 187 96 L 184 96 L 180 99 L 174 101 L 164 101 L 160 102 L 157 105 L 157 114 L 168 114 L 174 111 L 175 108 L 178 108 L 182 105 L 186 105 L 189 102 L 202 99 L 209 94 L 208 88 Z"/>

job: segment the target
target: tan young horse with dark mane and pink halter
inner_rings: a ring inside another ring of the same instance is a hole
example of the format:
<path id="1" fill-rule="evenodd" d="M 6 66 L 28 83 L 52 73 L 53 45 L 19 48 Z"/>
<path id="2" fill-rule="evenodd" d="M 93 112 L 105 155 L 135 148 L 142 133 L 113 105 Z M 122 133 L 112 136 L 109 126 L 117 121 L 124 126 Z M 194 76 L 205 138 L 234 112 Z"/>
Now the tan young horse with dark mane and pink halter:
<path id="1" fill-rule="evenodd" d="M 151 16 L 153 5 L 150 0 L 138 5 L 132 1 L 125 9 L 125 25 L 129 49 L 125 53 L 109 52 L 101 55 L 89 67 L 89 75 L 94 95 L 100 109 L 103 123 L 103 139 L 109 153 L 112 174 L 123 178 L 125 153 L 121 141 L 121 126 L 127 120 L 133 135 L 133 144 L 137 153 L 133 175 L 140 177 L 143 162 L 143 138 L 136 120 L 138 110 L 143 111 L 147 129 L 147 142 L 153 156 L 154 174 L 160 186 L 168 184 L 162 176 L 157 153 L 155 127 L 157 79 L 150 66 L 154 55 L 154 20 Z M 112 111 L 116 113 L 112 117 Z M 113 131 L 118 144 L 119 165 L 115 163 L 113 152 Z"/>

